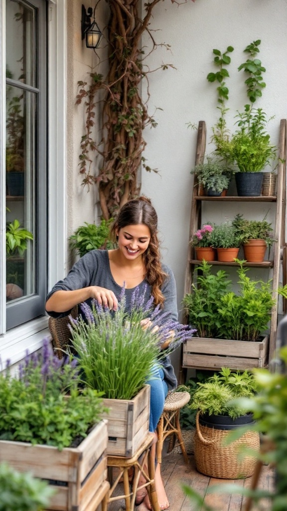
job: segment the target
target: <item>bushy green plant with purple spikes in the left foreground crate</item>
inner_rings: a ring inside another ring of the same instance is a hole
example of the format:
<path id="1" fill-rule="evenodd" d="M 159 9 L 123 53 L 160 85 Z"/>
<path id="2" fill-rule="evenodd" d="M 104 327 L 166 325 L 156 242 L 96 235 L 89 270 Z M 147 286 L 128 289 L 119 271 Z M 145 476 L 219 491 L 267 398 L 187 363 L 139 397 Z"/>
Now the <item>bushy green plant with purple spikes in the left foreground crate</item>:
<path id="1" fill-rule="evenodd" d="M 77 360 L 59 360 L 45 340 L 18 374 L 0 374 L 0 439 L 71 447 L 101 420 L 101 393 L 81 389 Z M 69 399 L 66 394 L 69 393 Z"/>

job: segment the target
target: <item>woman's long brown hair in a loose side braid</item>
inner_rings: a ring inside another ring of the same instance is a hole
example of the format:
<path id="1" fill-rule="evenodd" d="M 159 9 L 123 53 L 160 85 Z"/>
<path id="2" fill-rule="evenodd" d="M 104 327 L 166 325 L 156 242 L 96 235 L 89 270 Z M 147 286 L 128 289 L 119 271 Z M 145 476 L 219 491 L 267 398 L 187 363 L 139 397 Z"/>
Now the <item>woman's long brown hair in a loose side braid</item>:
<path id="1" fill-rule="evenodd" d="M 163 306 L 164 296 L 161 292 L 162 284 L 168 274 L 162 270 L 161 256 L 159 251 L 157 214 L 150 199 L 144 195 L 137 199 L 126 202 L 119 210 L 118 215 L 111 225 L 110 236 L 116 240 L 116 230 L 126 225 L 145 224 L 150 229 L 151 240 L 147 250 L 142 254 L 143 263 L 146 267 L 146 281 L 152 288 L 155 305 Z"/>

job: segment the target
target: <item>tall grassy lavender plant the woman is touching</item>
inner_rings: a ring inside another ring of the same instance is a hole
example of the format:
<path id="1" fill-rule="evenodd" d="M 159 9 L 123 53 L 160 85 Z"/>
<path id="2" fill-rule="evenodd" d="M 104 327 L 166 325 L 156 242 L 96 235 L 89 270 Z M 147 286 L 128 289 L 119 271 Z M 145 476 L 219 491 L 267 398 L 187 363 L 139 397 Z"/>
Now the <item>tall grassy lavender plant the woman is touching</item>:
<path id="1" fill-rule="evenodd" d="M 82 317 L 71 318 L 71 340 L 83 380 L 106 398 L 132 399 L 154 364 L 193 335 L 189 326 L 154 308 L 153 298 L 147 300 L 146 294 L 147 287 L 143 293 L 136 288 L 127 312 L 123 288 L 115 312 L 93 301 L 91 308 L 81 304 Z"/>

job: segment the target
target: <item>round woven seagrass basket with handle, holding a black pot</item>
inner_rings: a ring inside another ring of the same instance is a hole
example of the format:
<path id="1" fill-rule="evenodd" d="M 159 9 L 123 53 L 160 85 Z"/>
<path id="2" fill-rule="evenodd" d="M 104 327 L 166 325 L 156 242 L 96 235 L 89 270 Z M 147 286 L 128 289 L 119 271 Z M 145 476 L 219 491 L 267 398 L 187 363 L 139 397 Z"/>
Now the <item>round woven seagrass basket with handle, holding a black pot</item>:
<path id="1" fill-rule="evenodd" d="M 196 416 L 195 462 L 198 472 L 216 479 L 244 479 L 253 474 L 256 458 L 245 455 L 244 448 L 259 451 L 259 433 L 248 431 L 229 445 L 224 445 L 230 430 L 200 424 Z"/>

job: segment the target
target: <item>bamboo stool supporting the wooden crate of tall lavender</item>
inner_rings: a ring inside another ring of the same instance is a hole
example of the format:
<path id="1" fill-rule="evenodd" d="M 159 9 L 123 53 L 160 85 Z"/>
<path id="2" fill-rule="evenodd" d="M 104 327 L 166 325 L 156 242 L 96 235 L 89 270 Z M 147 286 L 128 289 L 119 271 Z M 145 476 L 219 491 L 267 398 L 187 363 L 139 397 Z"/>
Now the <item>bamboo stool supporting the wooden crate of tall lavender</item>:
<path id="1" fill-rule="evenodd" d="M 153 440 L 154 435 L 149 433 L 145 439 L 145 442 L 142 443 L 132 458 L 108 455 L 108 474 L 111 484 L 108 503 L 113 502 L 114 500 L 125 499 L 126 511 L 133 511 L 135 506 L 136 491 L 146 487 L 153 511 L 159 511 L 154 482 L 155 467 L 150 453 L 151 446 L 153 445 Z M 112 481 L 113 467 L 118 469 L 117 477 L 114 482 Z M 132 489 L 130 490 L 128 470 L 131 467 L 134 468 L 134 477 L 132 481 Z M 146 467 L 148 467 L 148 473 Z M 147 482 L 141 486 L 138 486 L 140 474 L 145 477 Z M 124 494 L 116 495 L 113 497 L 112 495 L 117 487 L 117 484 L 122 479 L 124 480 Z"/>

